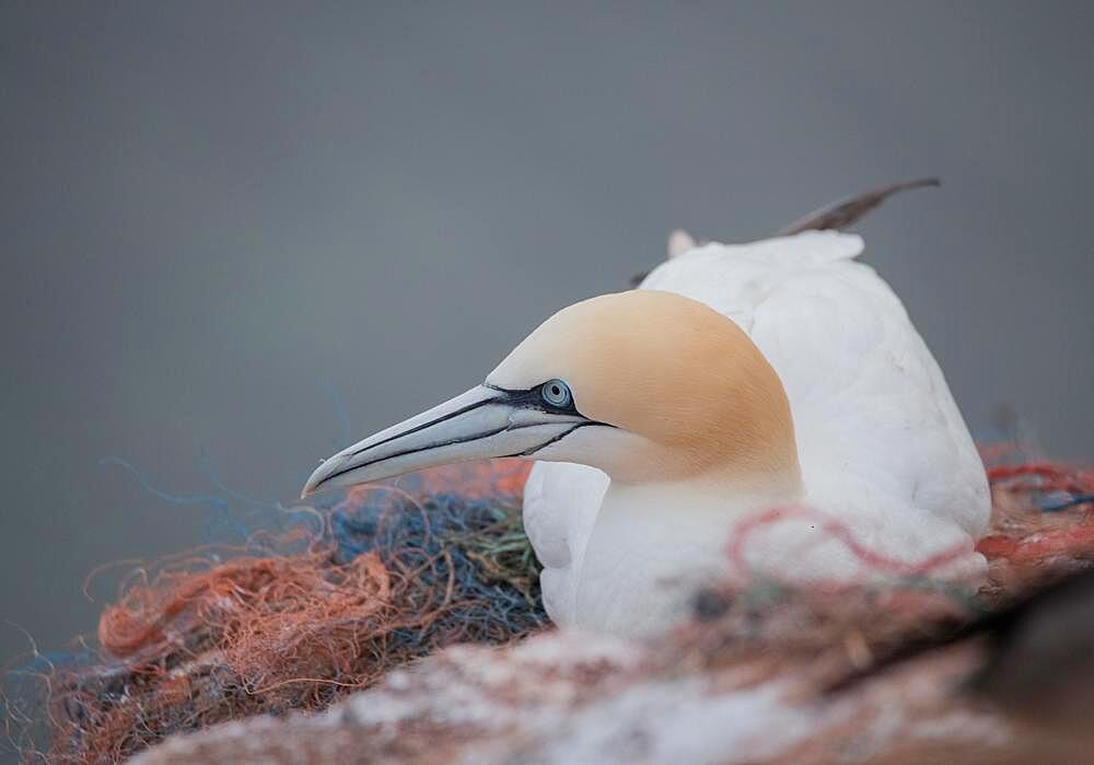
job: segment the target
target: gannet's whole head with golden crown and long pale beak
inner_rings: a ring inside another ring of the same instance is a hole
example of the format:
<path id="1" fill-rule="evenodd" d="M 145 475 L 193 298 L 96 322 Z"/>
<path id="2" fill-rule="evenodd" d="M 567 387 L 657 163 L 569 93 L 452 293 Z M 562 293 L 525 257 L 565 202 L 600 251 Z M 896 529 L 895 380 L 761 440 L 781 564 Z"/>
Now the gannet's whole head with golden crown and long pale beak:
<path id="1" fill-rule="evenodd" d="M 700 302 L 638 290 L 559 311 L 481 385 L 325 461 L 304 495 L 497 456 L 632 484 L 798 472 L 785 392 L 748 336 Z"/>

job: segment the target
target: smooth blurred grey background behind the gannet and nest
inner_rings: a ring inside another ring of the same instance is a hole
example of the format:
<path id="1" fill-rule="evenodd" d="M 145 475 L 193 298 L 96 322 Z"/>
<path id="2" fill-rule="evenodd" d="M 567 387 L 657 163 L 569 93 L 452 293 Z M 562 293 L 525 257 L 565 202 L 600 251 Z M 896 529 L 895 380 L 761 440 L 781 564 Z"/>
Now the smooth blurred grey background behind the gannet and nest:
<path id="1" fill-rule="evenodd" d="M 0 3 L 0 662 L 674 227 L 859 230 L 974 433 L 1094 456 L 1090 3 Z M 198 498 L 199 499 L 199 498 Z"/>

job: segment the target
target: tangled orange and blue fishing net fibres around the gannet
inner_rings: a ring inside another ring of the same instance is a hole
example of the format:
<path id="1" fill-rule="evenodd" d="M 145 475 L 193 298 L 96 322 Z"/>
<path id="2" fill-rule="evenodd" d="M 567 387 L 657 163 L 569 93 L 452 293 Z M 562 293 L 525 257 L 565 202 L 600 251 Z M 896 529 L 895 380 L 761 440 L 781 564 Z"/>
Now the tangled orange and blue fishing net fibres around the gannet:
<path id="1" fill-rule="evenodd" d="M 1094 560 L 1094 472 L 999 451 L 986 457 L 993 518 L 978 548 L 991 582 L 951 604 L 955 622 L 966 605 L 989 608 Z M 232 557 L 206 549 L 136 572 L 104 610 L 94 651 L 16 673 L 37 695 L 9 693 L 10 738 L 27 760 L 115 762 L 216 722 L 324 709 L 444 646 L 501 645 L 545 627 L 520 519 L 525 477 L 524 464 L 497 461 L 432 471 L 397 489 L 360 487 Z M 833 523 L 835 538 L 853 542 Z M 884 559 L 861 553 L 885 570 Z M 884 593 L 889 606 L 911 623 L 934 608 L 917 571 L 893 573 L 903 583 Z M 697 603 L 700 621 L 723 613 L 712 598 Z M 831 600 L 833 624 L 857 602 Z M 907 622 L 892 626 L 894 642 L 907 639 Z"/>

